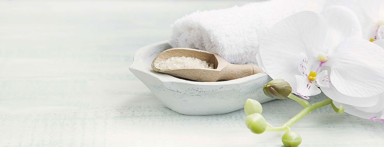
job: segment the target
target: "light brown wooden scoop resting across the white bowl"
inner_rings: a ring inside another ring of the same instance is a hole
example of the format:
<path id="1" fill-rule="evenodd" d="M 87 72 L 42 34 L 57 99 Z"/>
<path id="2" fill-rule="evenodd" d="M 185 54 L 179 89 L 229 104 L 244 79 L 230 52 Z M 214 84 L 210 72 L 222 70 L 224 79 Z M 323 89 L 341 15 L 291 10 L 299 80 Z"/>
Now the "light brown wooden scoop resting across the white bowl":
<path id="1" fill-rule="evenodd" d="M 155 64 L 171 57 L 194 57 L 202 61 L 214 64 L 214 69 L 209 68 L 176 68 L 157 69 Z M 231 80 L 250 76 L 263 72 L 260 68 L 250 64 L 231 64 L 215 53 L 196 50 L 191 48 L 171 48 L 163 51 L 152 61 L 152 69 L 157 72 L 166 73 L 171 76 L 191 79 L 200 82 L 215 82 Z"/>

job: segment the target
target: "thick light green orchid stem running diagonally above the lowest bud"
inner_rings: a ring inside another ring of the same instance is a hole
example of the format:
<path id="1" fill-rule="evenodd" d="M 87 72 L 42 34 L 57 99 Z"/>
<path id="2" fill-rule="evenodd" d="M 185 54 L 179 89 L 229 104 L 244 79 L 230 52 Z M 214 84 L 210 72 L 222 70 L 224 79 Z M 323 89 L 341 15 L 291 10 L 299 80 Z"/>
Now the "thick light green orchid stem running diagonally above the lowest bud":
<path id="1" fill-rule="evenodd" d="M 289 96 L 288 96 L 289 97 Z M 282 124 L 279 127 L 267 127 L 267 131 L 283 131 L 283 130 L 289 130 L 289 127 L 291 127 L 293 124 L 295 124 L 297 121 L 299 121 L 301 118 L 303 118 L 305 115 L 307 115 L 309 112 L 313 111 L 314 109 L 318 109 L 320 107 L 327 106 L 332 103 L 332 99 L 326 98 L 323 101 L 316 102 L 314 104 L 310 104 L 309 106 L 306 106 L 303 110 L 301 110 L 299 113 L 297 113 L 295 116 L 293 116 L 291 119 L 286 121 L 284 124 Z"/>

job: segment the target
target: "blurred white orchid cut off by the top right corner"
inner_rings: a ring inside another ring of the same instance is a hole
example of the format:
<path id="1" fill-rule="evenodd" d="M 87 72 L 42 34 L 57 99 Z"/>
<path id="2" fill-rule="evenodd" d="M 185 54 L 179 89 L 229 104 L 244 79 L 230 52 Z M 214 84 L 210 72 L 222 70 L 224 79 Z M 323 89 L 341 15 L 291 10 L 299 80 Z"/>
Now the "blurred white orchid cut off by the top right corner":
<path id="1" fill-rule="evenodd" d="M 325 7 L 341 5 L 359 19 L 363 38 L 384 47 L 384 0 L 328 0 Z"/>

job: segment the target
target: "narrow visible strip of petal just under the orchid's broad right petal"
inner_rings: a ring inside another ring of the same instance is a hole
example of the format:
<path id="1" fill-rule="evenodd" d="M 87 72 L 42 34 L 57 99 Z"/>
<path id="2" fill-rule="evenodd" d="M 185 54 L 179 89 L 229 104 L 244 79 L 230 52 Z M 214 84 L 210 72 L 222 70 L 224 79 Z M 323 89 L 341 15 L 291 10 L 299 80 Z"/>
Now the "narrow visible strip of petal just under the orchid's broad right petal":
<path id="1" fill-rule="evenodd" d="M 379 102 L 379 99 L 382 98 L 381 95 L 372 96 L 372 97 L 346 96 L 345 94 L 342 94 L 339 91 L 337 91 L 336 88 L 334 88 L 332 83 L 329 84 L 329 88 L 322 88 L 321 91 L 323 91 L 326 96 L 328 96 L 334 101 L 338 101 L 344 104 L 358 106 L 358 107 L 375 106 L 377 102 Z"/>

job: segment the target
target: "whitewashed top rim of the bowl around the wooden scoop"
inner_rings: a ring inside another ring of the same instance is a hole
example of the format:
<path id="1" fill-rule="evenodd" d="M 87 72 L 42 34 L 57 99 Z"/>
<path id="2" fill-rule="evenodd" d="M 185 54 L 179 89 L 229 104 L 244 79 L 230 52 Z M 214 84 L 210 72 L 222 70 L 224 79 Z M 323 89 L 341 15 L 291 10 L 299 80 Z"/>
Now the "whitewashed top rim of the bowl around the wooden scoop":
<path id="1" fill-rule="evenodd" d="M 170 75 L 165 74 L 165 73 L 156 72 L 151 68 L 151 65 L 148 65 L 149 66 L 148 69 L 150 69 L 149 72 L 145 72 L 146 69 L 142 68 L 142 66 L 136 66 L 137 64 L 144 64 L 144 63 L 142 63 L 142 60 L 139 59 L 139 58 L 141 58 L 142 54 L 145 54 L 145 52 L 147 52 L 148 50 L 150 50 L 154 46 L 158 46 L 158 45 L 162 45 L 162 44 L 168 44 L 169 45 L 169 40 L 163 40 L 163 41 L 159 41 L 156 43 L 151 43 L 149 45 L 146 45 L 146 46 L 139 48 L 139 50 L 137 50 L 134 54 L 133 63 L 131 64 L 131 66 L 129 66 L 129 69 L 142 71 L 144 73 L 147 73 L 147 74 L 159 79 L 162 82 L 185 83 L 185 84 L 193 84 L 193 85 L 223 86 L 223 85 L 232 85 L 232 84 L 242 84 L 245 82 L 253 81 L 253 80 L 258 79 L 258 78 L 262 78 L 264 76 L 268 76 L 265 72 L 262 72 L 262 73 L 253 74 L 251 76 L 246 76 L 243 78 L 238 78 L 238 79 L 233 79 L 233 80 L 228 80 L 228 81 L 198 82 L 198 81 L 188 81 L 185 79 L 175 78 L 175 77 L 170 76 Z M 153 61 L 153 59 L 152 59 L 152 61 Z M 140 67 L 141 69 L 137 69 L 137 67 Z M 159 75 L 161 75 L 161 76 L 159 76 Z"/>

